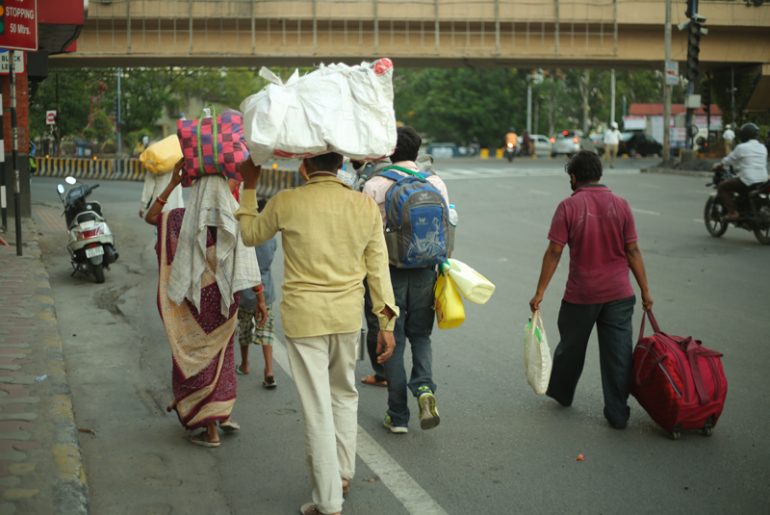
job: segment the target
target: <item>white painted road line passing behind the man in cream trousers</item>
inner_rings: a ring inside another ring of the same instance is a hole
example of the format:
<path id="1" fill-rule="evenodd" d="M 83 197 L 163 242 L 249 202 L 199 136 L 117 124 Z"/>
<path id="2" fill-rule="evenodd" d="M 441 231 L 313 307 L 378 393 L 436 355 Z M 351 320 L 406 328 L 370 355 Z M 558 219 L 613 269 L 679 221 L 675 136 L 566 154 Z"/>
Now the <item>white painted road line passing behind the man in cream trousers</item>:
<path id="1" fill-rule="evenodd" d="M 277 339 L 277 338 L 276 338 Z M 273 358 L 292 377 L 285 343 L 273 345 Z M 293 378 L 292 378 L 293 380 Z M 383 434 L 385 430 L 383 429 Z M 358 426 L 357 453 L 366 466 L 372 469 L 406 510 L 412 515 L 448 515 L 415 479 L 378 444 L 364 428 Z"/>

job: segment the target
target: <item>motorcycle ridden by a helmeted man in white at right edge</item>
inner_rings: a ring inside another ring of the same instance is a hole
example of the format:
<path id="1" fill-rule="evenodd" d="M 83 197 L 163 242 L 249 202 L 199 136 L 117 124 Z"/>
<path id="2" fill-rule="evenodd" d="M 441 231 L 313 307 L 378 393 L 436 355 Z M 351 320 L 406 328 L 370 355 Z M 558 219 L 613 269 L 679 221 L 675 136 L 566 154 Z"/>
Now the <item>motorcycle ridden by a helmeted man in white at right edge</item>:
<path id="1" fill-rule="evenodd" d="M 713 171 L 714 177 L 706 186 L 714 190 L 721 182 L 736 177 L 732 170 L 725 170 L 721 165 L 715 166 Z M 737 193 L 733 195 L 739 218 L 737 220 L 725 218 L 727 209 L 714 191 L 706 201 L 703 211 L 706 230 L 714 238 L 719 238 L 732 224 L 739 229 L 753 231 L 757 241 L 762 245 L 770 245 L 770 181 L 752 185 L 747 195 Z"/>

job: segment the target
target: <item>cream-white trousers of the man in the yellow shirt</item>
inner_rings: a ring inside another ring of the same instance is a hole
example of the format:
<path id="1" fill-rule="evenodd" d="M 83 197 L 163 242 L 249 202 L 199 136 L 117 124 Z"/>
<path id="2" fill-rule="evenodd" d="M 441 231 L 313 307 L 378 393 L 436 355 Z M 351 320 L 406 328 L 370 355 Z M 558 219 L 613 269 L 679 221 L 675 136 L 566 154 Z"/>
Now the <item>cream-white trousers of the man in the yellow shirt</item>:
<path id="1" fill-rule="evenodd" d="M 352 479 L 355 473 L 359 338 L 360 331 L 287 338 L 289 365 L 305 415 L 313 503 L 321 513 L 342 511 L 341 478 Z"/>

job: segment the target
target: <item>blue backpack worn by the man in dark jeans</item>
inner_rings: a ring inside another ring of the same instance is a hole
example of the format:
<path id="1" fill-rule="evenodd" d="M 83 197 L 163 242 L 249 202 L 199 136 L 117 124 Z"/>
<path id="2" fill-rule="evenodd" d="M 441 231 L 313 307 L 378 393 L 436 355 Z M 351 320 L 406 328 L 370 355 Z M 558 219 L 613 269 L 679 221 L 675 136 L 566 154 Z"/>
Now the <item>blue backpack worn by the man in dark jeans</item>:
<path id="1" fill-rule="evenodd" d="M 403 176 L 392 170 L 408 175 Z M 397 268 L 429 268 L 446 261 L 449 209 L 425 172 L 391 166 L 378 174 L 394 182 L 385 194 L 385 243 Z"/>

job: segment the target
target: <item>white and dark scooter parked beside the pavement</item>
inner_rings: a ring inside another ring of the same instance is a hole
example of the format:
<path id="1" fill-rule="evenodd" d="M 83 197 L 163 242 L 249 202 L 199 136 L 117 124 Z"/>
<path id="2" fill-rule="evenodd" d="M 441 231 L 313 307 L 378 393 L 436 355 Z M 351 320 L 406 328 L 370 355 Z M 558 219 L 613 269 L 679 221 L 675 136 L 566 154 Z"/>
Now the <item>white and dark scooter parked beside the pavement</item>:
<path id="1" fill-rule="evenodd" d="M 102 205 L 95 200 L 87 200 L 99 185 L 74 186 L 77 181 L 72 177 L 67 177 L 65 182 L 73 187 L 65 193 L 64 186 L 59 184 L 56 191 L 64 206 L 72 275 L 78 272 L 91 274 L 97 283 L 103 283 L 104 270 L 117 261 L 118 252 L 112 231 L 102 216 Z"/>

